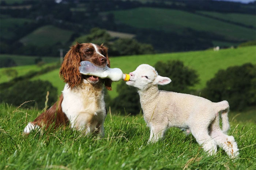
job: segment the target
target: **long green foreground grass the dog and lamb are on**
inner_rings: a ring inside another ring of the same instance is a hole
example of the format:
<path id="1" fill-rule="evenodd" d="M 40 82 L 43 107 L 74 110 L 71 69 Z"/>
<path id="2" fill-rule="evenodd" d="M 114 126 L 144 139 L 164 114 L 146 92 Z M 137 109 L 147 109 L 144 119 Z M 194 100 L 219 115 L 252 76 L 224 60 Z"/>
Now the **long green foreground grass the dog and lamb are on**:
<path id="1" fill-rule="evenodd" d="M 141 114 L 108 114 L 105 138 L 98 140 L 69 128 L 23 136 L 38 112 L 0 105 L 0 169 L 256 169 L 255 122 L 230 122 L 229 135 L 240 148 L 240 158 L 233 161 L 221 149 L 207 157 L 192 135 L 177 128 L 147 144 L 150 132 Z"/>

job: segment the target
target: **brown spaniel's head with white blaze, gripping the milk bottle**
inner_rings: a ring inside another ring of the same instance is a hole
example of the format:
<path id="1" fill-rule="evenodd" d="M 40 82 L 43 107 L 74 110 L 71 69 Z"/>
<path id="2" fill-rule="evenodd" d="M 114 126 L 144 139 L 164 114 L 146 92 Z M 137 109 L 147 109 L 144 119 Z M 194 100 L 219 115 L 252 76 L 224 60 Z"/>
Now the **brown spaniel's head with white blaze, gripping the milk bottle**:
<path id="1" fill-rule="evenodd" d="M 112 81 L 110 79 L 105 78 L 102 80 L 99 77 L 80 74 L 79 66 L 81 61 L 90 61 L 97 66 L 107 65 L 110 67 L 107 47 L 103 45 L 98 46 L 93 43 L 76 43 L 76 45 L 71 46 L 61 65 L 60 76 L 71 88 L 79 85 L 83 79 L 86 79 L 91 84 L 103 82 L 106 89 L 111 90 Z"/>

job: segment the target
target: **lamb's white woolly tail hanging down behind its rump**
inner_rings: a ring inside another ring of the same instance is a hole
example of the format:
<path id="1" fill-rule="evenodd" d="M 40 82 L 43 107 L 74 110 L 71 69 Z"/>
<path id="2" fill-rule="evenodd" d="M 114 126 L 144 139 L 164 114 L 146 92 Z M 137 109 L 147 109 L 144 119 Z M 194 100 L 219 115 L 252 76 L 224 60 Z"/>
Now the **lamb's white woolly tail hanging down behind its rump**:
<path id="1" fill-rule="evenodd" d="M 217 112 L 221 115 L 222 119 L 222 131 L 224 134 L 227 134 L 229 130 L 229 118 L 227 117 L 227 113 L 229 112 L 229 103 L 224 100 L 217 104 Z"/>

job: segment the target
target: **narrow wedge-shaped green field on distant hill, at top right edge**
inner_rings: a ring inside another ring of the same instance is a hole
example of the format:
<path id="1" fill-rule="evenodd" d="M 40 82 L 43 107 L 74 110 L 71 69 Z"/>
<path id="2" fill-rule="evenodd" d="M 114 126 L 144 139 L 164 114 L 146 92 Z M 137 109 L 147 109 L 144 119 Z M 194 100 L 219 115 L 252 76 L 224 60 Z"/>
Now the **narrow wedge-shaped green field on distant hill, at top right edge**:
<path id="1" fill-rule="evenodd" d="M 197 11 L 202 14 L 214 16 L 216 18 L 229 20 L 236 23 L 241 23 L 247 26 L 256 26 L 256 16 L 243 14 L 243 13 L 220 13 L 220 12 L 208 12 L 208 11 Z"/>

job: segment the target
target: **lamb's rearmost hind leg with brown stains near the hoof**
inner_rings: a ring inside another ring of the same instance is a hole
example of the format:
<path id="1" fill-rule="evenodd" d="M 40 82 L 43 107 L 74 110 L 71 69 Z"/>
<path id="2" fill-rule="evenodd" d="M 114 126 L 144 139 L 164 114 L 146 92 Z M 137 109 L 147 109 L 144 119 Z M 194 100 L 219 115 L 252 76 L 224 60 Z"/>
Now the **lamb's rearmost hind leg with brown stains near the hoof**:
<path id="1" fill-rule="evenodd" d="M 221 129 L 211 132 L 212 138 L 222 147 L 230 158 L 236 158 L 239 155 L 239 149 L 233 136 L 225 135 Z"/>

